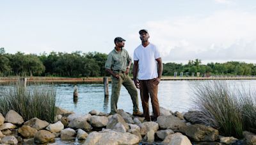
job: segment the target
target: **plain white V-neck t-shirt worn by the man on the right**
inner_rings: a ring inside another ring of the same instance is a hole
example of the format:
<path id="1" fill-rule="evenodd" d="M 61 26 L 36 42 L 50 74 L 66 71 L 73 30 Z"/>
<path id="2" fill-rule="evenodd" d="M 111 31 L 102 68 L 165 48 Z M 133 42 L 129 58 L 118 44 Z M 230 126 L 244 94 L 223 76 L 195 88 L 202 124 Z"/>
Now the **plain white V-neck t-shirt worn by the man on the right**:
<path id="1" fill-rule="evenodd" d="M 149 43 L 149 45 L 146 47 L 144 47 L 143 45 L 139 45 L 134 50 L 133 59 L 139 61 L 139 80 L 154 79 L 158 77 L 156 59 L 159 58 L 160 53 L 157 50 L 156 46 L 152 43 Z"/>

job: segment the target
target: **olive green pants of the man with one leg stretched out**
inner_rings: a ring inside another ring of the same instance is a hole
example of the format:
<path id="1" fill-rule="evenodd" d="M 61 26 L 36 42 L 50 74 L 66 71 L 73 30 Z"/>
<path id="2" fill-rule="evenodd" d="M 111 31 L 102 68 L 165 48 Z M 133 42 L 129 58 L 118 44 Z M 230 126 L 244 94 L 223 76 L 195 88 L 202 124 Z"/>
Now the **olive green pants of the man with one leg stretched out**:
<path id="1" fill-rule="evenodd" d="M 114 71 L 115 72 L 115 71 Z M 128 74 L 124 72 L 115 72 L 119 74 L 119 78 L 116 79 L 111 77 L 112 79 L 112 91 L 111 91 L 111 114 L 115 114 L 117 110 L 117 102 L 120 95 L 121 86 L 124 85 L 128 93 L 131 95 L 133 111 L 139 111 L 139 103 L 138 103 L 138 92 L 136 87 L 129 77 Z"/>

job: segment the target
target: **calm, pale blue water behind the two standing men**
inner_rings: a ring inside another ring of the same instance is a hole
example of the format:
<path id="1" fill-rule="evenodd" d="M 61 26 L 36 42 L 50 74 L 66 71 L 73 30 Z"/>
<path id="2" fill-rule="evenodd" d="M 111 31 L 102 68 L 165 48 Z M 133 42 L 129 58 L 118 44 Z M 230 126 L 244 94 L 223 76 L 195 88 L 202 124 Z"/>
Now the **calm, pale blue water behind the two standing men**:
<path id="1" fill-rule="evenodd" d="M 173 112 L 186 112 L 193 108 L 193 88 L 198 83 L 204 83 L 206 81 L 161 81 L 158 90 L 158 99 L 161 107 L 170 109 Z M 256 80 L 231 80 L 226 81 L 230 86 L 244 86 L 246 88 L 256 88 Z M 104 113 L 110 112 L 110 95 L 111 84 L 109 84 L 109 97 L 104 97 L 103 84 L 78 84 L 78 100 L 73 101 L 74 85 L 61 84 L 55 85 L 57 102 L 56 105 L 67 109 L 68 111 L 74 111 L 79 114 L 86 114 L 92 109 L 102 111 Z M 140 101 L 139 93 L 139 105 L 140 110 L 143 111 Z M 124 109 L 124 111 L 132 113 L 132 100 L 127 90 L 122 86 L 120 97 L 118 100 L 118 109 Z M 152 106 L 150 104 L 150 111 Z"/>

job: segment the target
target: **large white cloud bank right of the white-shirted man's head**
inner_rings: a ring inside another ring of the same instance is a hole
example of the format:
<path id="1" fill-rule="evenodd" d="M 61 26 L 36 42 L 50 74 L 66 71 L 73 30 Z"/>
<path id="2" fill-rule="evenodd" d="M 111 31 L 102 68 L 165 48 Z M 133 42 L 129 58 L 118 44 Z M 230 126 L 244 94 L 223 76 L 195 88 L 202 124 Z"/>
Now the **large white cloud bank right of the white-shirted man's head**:
<path id="1" fill-rule="evenodd" d="M 209 17 L 171 18 L 147 22 L 150 41 L 165 61 L 253 60 L 256 56 L 256 15 L 218 11 Z"/>

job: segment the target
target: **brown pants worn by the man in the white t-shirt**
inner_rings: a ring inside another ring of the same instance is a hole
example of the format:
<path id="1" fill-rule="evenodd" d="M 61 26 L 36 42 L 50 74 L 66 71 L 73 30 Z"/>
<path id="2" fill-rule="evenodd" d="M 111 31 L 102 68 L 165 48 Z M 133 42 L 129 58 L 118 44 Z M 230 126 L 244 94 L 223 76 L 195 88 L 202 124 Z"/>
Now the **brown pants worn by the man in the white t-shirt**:
<path id="1" fill-rule="evenodd" d="M 150 114 L 149 114 L 149 107 L 148 107 L 149 95 L 150 95 L 151 104 L 153 108 L 154 118 L 157 118 L 160 115 L 159 102 L 157 99 L 158 85 L 156 86 L 153 85 L 153 82 L 155 80 L 156 79 L 140 80 L 141 103 L 143 107 L 143 114 L 144 114 L 145 120 L 147 121 L 150 121 Z"/>

